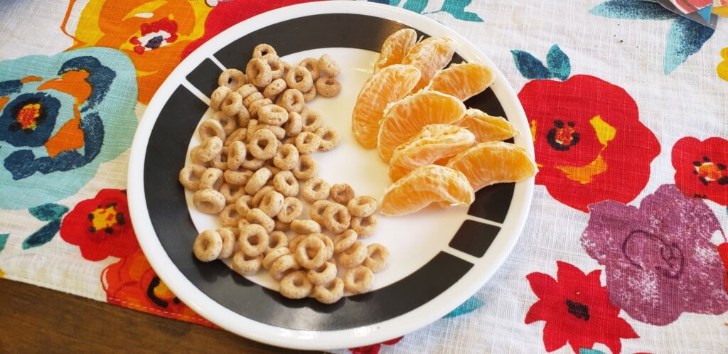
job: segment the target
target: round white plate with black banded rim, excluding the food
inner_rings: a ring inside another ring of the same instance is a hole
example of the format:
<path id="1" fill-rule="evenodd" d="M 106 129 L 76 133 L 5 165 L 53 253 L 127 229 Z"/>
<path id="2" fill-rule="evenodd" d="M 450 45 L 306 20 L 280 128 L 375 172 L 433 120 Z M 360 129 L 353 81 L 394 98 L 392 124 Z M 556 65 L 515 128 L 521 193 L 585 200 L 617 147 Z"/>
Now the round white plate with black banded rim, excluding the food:
<path id="1" fill-rule="evenodd" d="M 466 105 L 507 117 L 521 132 L 515 143 L 533 153 L 525 114 L 502 73 L 477 47 L 427 17 L 367 2 L 326 1 L 277 9 L 234 25 L 191 53 L 162 84 L 141 120 L 130 157 L 130 213 L 139 243 L 159 277 L 189 307 L 224 329 L 271 345 L 357 347 L 441 318 L 502 264 L 523 229 L 532 178 L 482 189 L 470 210 L 427 208 L 410 216 L 380 216 L 376 235 L 363 242 L 387 246 L 389 268 L 375 275 L 374 291 L 329 306 L 282 298 L 266 272 L 243 278 L 220 261 L 203 264 L 192 255 L 197 233 L 219 224 L 191 207 L 191 193 L 183 192 L 177 175 L 189 163 L 186 153 L 199 143 L 195 127 L 212 114 L 207 95 L 221 68 L 242 69 L 260 42 L 272 44 L 289 63 L 331 55 L 341 66 L 343 89 L 336 98 L 317 98 L 309 109 L 320 111 L 342 140 L 333 151 L 314 154 L 320 176 L 331 184 L 349 183 L 357 194 L 381 197 L 389 185 L 387 165 L 375 150 L 355 142 L 350 117 L 376 50 L 403 27 L 454 39 L 454 62 L 494 68 L 491 89 Z"/>

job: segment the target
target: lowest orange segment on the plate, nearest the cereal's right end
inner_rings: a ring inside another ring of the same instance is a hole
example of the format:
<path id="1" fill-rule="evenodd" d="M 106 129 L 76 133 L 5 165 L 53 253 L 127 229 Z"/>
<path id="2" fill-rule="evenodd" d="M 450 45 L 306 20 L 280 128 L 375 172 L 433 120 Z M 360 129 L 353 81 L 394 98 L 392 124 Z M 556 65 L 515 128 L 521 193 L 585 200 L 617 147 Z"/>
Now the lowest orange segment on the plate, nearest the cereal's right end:
<path id="1" fill-rule="evenodd" d="M 381 213 L 400 216 L 414 213 L 432 202 L 470 205 L 475 200 L 465 175 L 452 168 L 427 165 L 389 186 L 381 200 Z"/>

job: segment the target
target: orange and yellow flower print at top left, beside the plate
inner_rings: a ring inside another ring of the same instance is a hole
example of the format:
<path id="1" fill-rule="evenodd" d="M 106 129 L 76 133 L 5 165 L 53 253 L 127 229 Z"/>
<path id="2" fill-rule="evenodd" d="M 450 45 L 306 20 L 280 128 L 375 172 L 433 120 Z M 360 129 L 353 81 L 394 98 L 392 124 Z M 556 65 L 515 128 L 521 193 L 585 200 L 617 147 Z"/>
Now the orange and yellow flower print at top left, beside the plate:
<path id="1" fill-rule="evenodd" d="M 68 5 L 69 12 L 74 3 Z M 81 12 L 70 49 L 96 46 L 124 52 L 137 70 L 139 102 L 146 104 L 180 62 L 182 50 L 205 32 L 211 9 L 194 0 L 91 0 Z"/>

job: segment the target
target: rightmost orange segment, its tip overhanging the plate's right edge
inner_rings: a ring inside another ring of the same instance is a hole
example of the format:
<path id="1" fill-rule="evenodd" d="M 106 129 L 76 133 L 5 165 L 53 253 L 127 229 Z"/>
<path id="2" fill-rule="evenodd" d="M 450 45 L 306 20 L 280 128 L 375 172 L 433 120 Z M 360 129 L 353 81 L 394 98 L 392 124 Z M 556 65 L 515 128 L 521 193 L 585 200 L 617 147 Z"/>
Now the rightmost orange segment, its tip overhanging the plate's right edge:
<path id="1" fill-rule="evenodd" d="M 502 141 L 479 143 L 451 158 L 448 167 L 464 173 L 475 191 L 491 184 L 523 181 L 538 171 L 526 148 Z"/>

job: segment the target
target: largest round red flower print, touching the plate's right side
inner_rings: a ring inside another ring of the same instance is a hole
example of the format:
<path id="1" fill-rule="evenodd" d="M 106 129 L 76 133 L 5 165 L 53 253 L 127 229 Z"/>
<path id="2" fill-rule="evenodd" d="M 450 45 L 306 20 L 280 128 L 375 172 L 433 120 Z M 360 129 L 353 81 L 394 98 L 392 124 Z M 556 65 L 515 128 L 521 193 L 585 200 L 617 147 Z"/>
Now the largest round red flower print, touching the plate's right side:
<path id="1" fill-rule="evenodd" d="M 588 212 L 603 200 L 630 202 L 649 180 L 660 143 L 621 87 L 594 76 L 532 80 L 518 93 L 536 149 L 536 183 Z"/>

